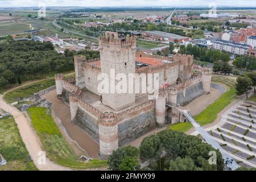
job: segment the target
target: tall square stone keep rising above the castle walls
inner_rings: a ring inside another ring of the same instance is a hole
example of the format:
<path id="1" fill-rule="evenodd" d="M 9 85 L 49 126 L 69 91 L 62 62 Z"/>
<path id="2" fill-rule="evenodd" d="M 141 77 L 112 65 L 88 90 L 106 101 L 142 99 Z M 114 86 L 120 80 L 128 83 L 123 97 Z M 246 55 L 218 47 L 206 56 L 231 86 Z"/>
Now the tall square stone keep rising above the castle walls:
<path id="1" fill-rule="evenodd" d="M 130 35 L 118 37 L 117 32 L 105 32 L 105 35 L 99 38 L 99 45 L 101 73 L 105 73 L 109 77 L 109 93 L 102 94 L 102 103 L 114 110 L 120 110 L 133 105 L 135 93 L 129 93 L 127 79 L 129 73 L 135 74 L 136 39 Z M 115 79 L 119 73 L 122 73 L 127 78 L 122 81 L 127 85 L 126 93 L 117 93 L 114 89 L 118 82 L 121 81 Z"/>

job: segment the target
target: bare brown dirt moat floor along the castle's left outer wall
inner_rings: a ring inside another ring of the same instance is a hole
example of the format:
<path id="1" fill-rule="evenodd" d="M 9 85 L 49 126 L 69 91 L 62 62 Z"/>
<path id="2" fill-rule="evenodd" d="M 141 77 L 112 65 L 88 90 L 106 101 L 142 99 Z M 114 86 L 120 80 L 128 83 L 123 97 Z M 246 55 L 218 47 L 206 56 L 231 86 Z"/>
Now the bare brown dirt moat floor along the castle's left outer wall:
<path id="1" fill-rule="evenodd" d="M 52 110 L 60 118 L 69 137 L 75 140 L 91 158 L 98 158 L 98 151 L 100 150 L 98 143 L 90 138 L 79 126 L 71 122 L 70 108 L 57 98 L 56 90 L 52 90 L 42 97 L 45 97 L 48 102 L 52 103 Z"/>

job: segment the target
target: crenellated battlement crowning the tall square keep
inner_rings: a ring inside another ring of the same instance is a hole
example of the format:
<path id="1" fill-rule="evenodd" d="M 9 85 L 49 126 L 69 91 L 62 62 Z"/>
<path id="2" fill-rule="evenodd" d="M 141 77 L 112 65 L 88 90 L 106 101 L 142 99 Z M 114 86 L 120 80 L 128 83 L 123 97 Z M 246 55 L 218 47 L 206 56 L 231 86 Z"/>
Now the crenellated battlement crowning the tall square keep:
<path id="1" fill-rule="evenodd" d="M 136 48 L 137 46 L 136 38 L 134 38 L 134 36 L 130 36 L 129 34 L 127 36 L 118 36 L 117 32 L 108 31 L 105 32 L 105 35 L 99 37 L 98 42 L 100 50 L 102 50 L 103 47 Z"/>

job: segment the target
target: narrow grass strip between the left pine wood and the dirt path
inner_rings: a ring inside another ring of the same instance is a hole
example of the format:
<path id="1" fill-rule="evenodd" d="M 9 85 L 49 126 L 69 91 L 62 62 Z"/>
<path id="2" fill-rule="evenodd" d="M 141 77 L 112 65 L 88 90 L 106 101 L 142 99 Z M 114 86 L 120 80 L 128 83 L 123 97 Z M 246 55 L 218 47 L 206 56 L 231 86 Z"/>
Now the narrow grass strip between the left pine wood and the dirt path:
<path id="1" fill-rule="evenodd" d="M 7 102 L 13 103 L 19 101 L 22 98 L 31 96 L 34 93 L 39 92 L 40 90 L 49 88 L 50 86 L 55 85 L 55 79 L 51 78 L 49 80 L 39 81 L 34 84 L 23 86 L 22 88 L 15 89 L 5 94 L 4 98 Z"/>

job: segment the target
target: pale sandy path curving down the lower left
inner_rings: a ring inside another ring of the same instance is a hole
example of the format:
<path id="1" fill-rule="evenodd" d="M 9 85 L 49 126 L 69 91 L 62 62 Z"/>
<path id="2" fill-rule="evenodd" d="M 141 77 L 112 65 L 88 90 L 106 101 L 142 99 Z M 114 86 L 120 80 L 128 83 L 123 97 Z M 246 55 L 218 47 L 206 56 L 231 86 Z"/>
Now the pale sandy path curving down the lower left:
<path id="1" fill-rule="evenodd" d="M 0 95 L 0 108 L 10 112 L 13 115 L 16 124 L 18 125 L 20 136 L 22 137 L 23 142 L 26 145 L 28 153 L 31 156 L 35 166 L 41 171 L 69 171 L 70 168 L 60 166 L 48 158 L 46 158 L 46 164 L 39 164 L 40 162 L 40 151 L 42 150 L 42 146 L 40 144 L 40 140 L 36 135 L 34 128 L 31 126 L 30 121 L 25 115 L 20 112 L 15 107 L 8 105 L 9 109 L 7 108 L 7 103 L 3 101 L 3 95 Z"/>

